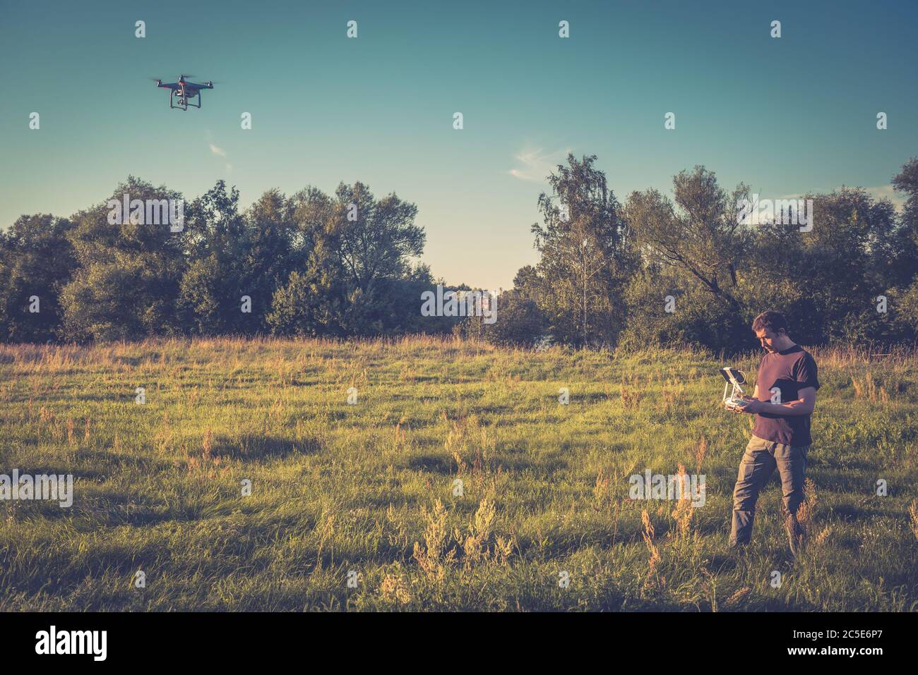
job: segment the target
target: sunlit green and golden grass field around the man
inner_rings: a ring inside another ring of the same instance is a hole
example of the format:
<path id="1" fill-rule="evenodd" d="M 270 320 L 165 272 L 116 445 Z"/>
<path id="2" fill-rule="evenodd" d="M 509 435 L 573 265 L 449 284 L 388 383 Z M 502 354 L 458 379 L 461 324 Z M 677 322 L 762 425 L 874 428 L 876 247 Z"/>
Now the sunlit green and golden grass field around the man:
<path id="1" fill-rule="evenodd" d="M 915 611 L 918 357 L 813 354 L 792 559 L 777 475 L 727 548 L 752 420 L 701 351 L 0 346 L 0 473 L 74 477 L 0 502 L 0 610 Z M 629 499 L 679 464 L 703 506 Z"/>

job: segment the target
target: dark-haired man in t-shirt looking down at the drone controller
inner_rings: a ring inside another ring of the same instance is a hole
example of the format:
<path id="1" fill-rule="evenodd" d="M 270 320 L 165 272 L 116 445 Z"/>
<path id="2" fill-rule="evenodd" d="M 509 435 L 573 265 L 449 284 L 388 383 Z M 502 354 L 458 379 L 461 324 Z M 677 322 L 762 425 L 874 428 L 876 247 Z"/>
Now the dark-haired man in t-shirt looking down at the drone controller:
<path id="1" fill-rule="evenodd" d="M 778 312 L 756 316 L 752 329 L 766 354 L 758 364 L 756 391 L 744 396 L 749 403 L 736 410 L 756 415 L 756 424 L 733 488 L 730 545 L 749 543 L 758 492 L 777 467 L 784 492 L 784 527 L 790 551 L 797 555 L 803 541 L 797 509 L 803 501 L 803 472 L 812 444 L 810 415 L 820 386 L 816 361 L 788 337 L 788 323 Z"/>

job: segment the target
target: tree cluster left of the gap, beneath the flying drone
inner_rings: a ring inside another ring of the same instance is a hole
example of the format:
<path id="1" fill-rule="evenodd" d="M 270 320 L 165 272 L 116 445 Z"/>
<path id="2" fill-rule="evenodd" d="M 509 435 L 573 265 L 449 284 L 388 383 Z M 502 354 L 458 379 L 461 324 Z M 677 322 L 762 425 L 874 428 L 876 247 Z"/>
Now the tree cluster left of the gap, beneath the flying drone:
<path id="1" fill-rule="evenodd" d="M 130 176 L 120 202 L 181 199 Z M 185 204 L 180 231 L 110 222 L 107 201 L 62 218 L 21 216 L 0 249 L 0 338 L 87 341 L 151 335 L 371 336 L 449 330 L 418 312 L 433 285 L 417 207 L 363 183 L 334 195 L 265 192 L 242 210 L 218 181 Z M 32 299 L 38 298 L 38 311 Z"/>

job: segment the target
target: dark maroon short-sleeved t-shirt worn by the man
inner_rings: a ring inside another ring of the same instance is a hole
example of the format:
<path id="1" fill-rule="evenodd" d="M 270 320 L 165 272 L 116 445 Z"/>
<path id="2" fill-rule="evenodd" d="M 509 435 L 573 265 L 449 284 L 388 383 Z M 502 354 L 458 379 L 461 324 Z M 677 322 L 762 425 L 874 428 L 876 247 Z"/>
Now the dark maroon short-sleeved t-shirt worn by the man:
<path id="1" fill-rule="evenodd" d="M 816 361 L 800 345 L 766 354 L 758 364 L 756 386 L 759 401 L 770 403 L 778 390 L 781 397 L 780 401 L 775 399 L 776 403 L 796 401 L 800 398 L 801 389 L 819 389 Z M 759 438 L 791 446 L 812 444 L 810 415 L 757 413 L 752 433 Z"/>

